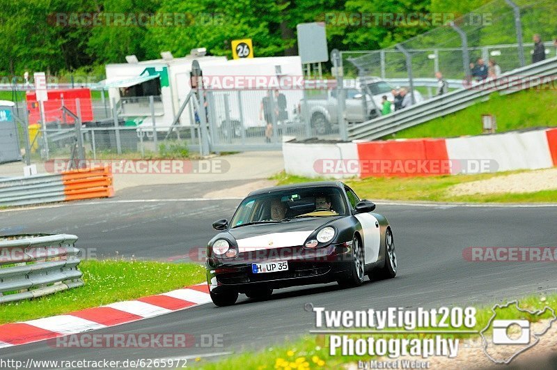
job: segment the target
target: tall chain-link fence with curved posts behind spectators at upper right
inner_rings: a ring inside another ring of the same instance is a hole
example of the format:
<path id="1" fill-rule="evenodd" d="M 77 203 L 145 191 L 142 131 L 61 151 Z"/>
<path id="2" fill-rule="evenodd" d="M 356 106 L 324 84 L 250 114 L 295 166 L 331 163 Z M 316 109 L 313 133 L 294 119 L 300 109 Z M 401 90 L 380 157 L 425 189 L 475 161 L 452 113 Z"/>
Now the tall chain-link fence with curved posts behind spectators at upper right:
<path id="1" fill-rule="evenodd" d="M 373 75 L 408 77 L 409 65 L 402 50 L 411 56 L 412 77 L 473 77 L 478 59 L 494 73 L 532 63 L 533 36 L 539 34 L 545 52 L 554 56 L 556 36 L 555 0 L 520 0 L 513 8 L 508 0 L 495 0 L 471 13 L 403 43 L 372 52 L 342 52 L 345 76 Z M 495 68 L 491 63 L 499 65 Z M 473 63 L 473 65 L 470 65 Z"/>

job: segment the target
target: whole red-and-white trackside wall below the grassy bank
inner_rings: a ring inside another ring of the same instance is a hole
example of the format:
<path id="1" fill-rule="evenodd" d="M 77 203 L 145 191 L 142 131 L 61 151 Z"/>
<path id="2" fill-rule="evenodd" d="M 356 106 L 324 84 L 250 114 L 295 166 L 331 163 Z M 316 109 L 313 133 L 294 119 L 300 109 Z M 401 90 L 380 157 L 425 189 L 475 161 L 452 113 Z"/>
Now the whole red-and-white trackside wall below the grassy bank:
<path id="1" fill-rule="evenodd" d="M 451 139 L 283 144 L 287 174 L 309 178 L 436 176 L 557 167 L 557 128 Z"/>

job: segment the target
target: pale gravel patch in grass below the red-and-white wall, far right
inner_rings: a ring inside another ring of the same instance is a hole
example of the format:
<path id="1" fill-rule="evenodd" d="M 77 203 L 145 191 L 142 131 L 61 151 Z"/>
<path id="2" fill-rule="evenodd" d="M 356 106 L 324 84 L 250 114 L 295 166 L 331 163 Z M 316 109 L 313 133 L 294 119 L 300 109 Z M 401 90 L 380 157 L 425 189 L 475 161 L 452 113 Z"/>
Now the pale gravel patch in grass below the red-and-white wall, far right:
<path id="1" fill-rule="evenodd" d="M 497 176 L 450 187 L 450 194 L 529 193 L 557 189 L 557 168 Z"/>

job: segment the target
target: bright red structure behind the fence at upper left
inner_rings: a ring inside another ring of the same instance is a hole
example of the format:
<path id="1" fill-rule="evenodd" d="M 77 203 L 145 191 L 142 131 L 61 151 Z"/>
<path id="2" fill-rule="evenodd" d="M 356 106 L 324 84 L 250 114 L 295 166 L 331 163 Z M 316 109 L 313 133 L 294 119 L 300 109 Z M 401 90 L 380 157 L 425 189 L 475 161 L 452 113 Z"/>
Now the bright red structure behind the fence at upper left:
<path id="1" fill-rule="evenodd" d="M 81 108 L 81 121 L 93 121 L 93 107 L 91 105 L 91 90 L 88 88 L 71 88 L 68 90 L 49 90 L 48 100 L 45 105 L 45 116 L 47 122 L 62 120 L 62 98 L 64 105 L 70 111 L 76 113 L 75 100 L 79 99 Z M 29 109 L 29 124 L 35 124 L 40 121 L 40 109 L 37 102 L 35 91 L 28 91 L 27 95 L 27 109 Z M 66 114 L 66 123 L 73 124 L 72 116 Z"/>

